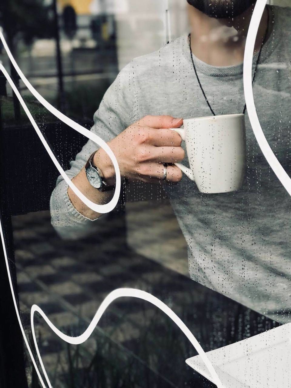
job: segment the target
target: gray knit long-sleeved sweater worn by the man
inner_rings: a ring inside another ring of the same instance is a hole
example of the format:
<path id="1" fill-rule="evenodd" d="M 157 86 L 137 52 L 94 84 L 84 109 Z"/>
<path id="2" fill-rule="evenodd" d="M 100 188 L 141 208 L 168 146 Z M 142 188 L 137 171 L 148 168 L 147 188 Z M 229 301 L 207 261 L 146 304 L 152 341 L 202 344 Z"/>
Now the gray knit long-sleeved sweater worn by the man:
<path id="1" fill-rule="evenodd" d="M 291 15 L 273 8 L 274 28 L 254 83 L 258 117 L 277 158 L 290 170 Z M 257 57 L 254 57 L 254 67 Z M 214 67 L 194 57 L 216 114 L 242 113 L 242 65 Z M 209 116 L 192 67 L 187 36 L 133 60 L 118 75 L 94 115 L 92 131 L 106 142 L 147 115 Z M 247 173 L 242 189 L 201 194 L 186 177 L 167 194 L 188 243 L 191 278 L 281 322 L 291 321 L 291 200 L 260 151 L 248 116 Z M 89 141 L 67 171 L 73 178 L 96 149 Z M 186 163 L 186 162 L 185 162 Z M 78 213 L 59 177 L 51 196 L 52 225 L 78 238 L 98 222 Z"/>

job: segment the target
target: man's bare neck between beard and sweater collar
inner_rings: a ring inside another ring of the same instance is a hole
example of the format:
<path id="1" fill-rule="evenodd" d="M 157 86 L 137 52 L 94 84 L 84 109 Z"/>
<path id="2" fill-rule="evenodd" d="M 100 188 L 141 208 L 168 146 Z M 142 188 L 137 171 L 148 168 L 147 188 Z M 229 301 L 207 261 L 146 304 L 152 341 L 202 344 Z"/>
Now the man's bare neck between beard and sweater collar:
<path id="1" fill-rule="evenodd" d="M 189 5 L 193 54 L 212 66 L 234 66 L 243 62 L 253 7 L 234 19 L 215 19 Z M 262 47 L 267 21 L 268 10 L 265 9 L 256 37 L 255 52 Z M 268 31 L 268 35 L 270 33 Z"/>

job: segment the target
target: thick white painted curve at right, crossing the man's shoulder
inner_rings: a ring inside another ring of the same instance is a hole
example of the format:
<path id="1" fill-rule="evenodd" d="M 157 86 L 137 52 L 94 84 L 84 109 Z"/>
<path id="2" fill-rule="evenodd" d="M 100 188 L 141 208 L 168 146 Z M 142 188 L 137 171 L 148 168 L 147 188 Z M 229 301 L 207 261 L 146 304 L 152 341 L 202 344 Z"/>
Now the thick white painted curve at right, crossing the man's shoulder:
<path id="1" fill-rule="evenodd" d="M 251 18 L 251 23 L 249 24 L 248 36 L 246 38 L 246 48 L 244 50 L 244 96 L 246 100 L 246 106 L 248 108 L 249 121 L 251 122 L 251 126 L 253 128 L 253 132 L 255 134 L 258 145 L 260 146 L 260 149 L 262 150 L 263 155 L 267 159 L 267 162 L 269 163 L 270 167 L 277 175 L 277 178 L 280 180 L 281 184 L 285 187 L 288 194 L 291 196 L 291 178 L 281 166 L 270 145 L 268 144 L 268 141 L 260 125 L 258 115 L 256 114 L 256 107 L 253 95 L 253 52 L 255 49 L 255 41 L 258 33 L 258 28 L 260 26 L 260 21 L 262 19 L 266 3 L 267 0 L 258 0 L 256 2 L 253 16 Z"/>

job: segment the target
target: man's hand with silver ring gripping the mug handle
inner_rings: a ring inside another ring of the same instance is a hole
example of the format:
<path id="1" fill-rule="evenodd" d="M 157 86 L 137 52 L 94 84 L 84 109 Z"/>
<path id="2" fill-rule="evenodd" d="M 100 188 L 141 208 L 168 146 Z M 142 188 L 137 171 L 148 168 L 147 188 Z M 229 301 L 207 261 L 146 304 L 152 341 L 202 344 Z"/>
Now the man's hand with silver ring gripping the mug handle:
<path id="1" fill-rule="evenodd" d="M 108 145 L 118 161 L 121 178 L 146 183 L 159 183 L 164 178 L 166 182 L 180 182 L 182 172 L 173 163 L 182 161 L 185 151 L 181 137 L 171 128 L 182 124 L 182 118 L 145 116 L 111 140 Z M 164 163 L 170 165 L 165 168 Z M 95 153 L 94 165 L 108 184 L 114 184 L 114 167 L 103 149 Z"/>

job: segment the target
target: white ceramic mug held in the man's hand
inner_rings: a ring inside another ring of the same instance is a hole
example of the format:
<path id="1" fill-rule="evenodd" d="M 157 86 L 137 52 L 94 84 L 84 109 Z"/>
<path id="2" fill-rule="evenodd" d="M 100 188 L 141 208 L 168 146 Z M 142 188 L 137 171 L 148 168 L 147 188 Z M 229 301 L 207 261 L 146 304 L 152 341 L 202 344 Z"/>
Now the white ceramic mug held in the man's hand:
<path id="1" fill-rule="evenodd" d="M 173 128 L 186 143 L 190 168 L 175 163 L 203 193 L 241 188 L 246 164 L 244 114 L 199 117 Z"/>

